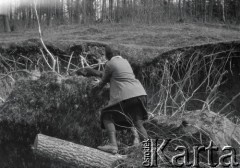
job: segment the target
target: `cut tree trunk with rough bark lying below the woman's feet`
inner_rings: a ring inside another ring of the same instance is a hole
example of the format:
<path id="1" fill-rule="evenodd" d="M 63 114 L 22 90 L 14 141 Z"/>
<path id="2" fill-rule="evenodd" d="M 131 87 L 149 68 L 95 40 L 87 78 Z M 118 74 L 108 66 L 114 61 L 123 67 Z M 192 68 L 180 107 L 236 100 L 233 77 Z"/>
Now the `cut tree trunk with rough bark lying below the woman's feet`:
<path id="1" fill-rule="evenodd" d="M 112 155 L 94 148 L 38 134 L 33 150 L 37 155 L 62 162 L 64 165 L 80 167 L 111 167 L 123 155 Z"/>

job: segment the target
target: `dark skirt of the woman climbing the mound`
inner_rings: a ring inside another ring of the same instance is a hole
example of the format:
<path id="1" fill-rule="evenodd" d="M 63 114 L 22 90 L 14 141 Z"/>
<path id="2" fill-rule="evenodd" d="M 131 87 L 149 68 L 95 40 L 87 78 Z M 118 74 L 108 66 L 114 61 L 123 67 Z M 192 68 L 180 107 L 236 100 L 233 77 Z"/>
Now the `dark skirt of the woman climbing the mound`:
<path id="1" fill-rule="evenodd" d="M 105 129 L 103 118 L 110 115 L 117 130 L 125 129 L 133 126 L 134 120 L 148 119 L 146 110 L 147 96 L 133 97 L 123 100 L 113 106 L 106 107 L 101 111 L 101 127 Z"/>

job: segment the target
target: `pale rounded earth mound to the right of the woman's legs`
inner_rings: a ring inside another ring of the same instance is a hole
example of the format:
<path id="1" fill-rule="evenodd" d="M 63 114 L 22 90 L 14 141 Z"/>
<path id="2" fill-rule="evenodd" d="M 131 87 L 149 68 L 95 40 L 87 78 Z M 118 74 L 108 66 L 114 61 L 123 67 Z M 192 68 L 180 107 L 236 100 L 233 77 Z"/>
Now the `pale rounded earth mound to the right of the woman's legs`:
<path id="1" fill-rule="evenodd" d="M 175 128 L 182 134 L 192 135 L 201 132 L 221 148 L 226 145 L 240 146 L 240 126 L 226 116 L 209 110 L 183 112 L 172 117 L 159 116 L 155 120 L 159 129 Z"/>

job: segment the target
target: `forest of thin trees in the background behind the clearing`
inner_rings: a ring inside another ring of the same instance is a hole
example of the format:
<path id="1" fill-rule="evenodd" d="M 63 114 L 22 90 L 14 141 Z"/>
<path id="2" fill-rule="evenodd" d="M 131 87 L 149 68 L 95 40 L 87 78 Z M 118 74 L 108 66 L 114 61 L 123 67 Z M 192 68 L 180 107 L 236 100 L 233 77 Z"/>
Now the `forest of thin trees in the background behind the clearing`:
<path id="1" fill-rule="evenodd" d="M 159 24 L 166 22 L 240 23 L 239 0 L 10 0 L 0 2 L 5 32 L 41 24 L 102 22 Z"/>

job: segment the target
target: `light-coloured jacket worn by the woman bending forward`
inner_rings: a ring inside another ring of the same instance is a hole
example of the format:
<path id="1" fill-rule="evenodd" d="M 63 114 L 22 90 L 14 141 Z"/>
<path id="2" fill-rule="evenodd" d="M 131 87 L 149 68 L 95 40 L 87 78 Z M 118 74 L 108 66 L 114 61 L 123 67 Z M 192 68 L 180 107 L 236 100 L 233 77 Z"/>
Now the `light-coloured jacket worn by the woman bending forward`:
<path id="1" fill-rule="evenodd" d="M 129 62 L 121 56 L 112 57 L 106 63 L 102 82 L 110 82 L 110 100 L 107 107 L 122 100 L 147 95 L 140 81 L 135 78 Z"/>

